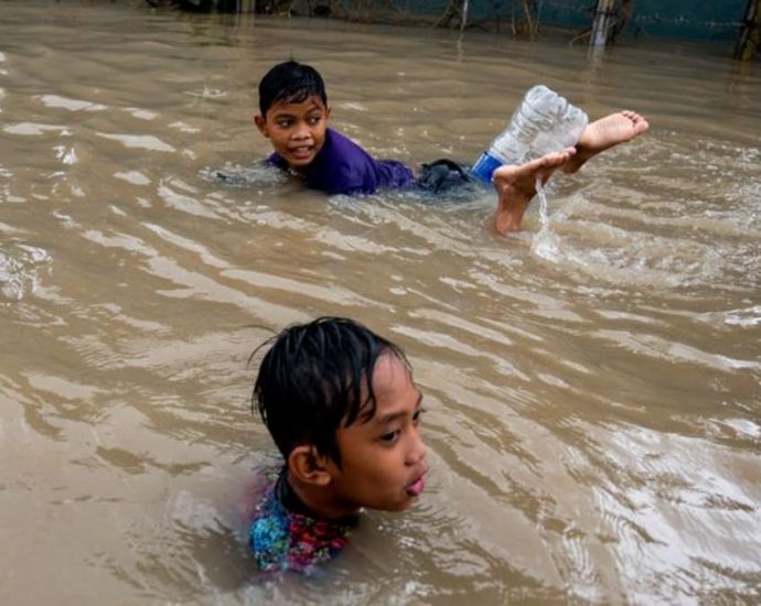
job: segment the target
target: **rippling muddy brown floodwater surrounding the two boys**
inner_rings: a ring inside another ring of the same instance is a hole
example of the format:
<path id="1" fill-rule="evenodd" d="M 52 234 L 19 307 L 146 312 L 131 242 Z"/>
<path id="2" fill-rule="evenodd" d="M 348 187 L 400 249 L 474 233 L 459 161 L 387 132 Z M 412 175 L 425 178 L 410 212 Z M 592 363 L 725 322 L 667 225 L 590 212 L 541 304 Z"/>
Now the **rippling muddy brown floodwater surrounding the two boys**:
<path id="1" fill-rule="evenodd" d="M 0 3 L 0 602 L 758 603 L 761 72 L 645 42 Z M 489 192 L 264 169 L 291 56 L 377 158 L 472 161 L 534 84 L 651 130 L 501 237 Z M 431 472 L 261 582 L 247 360 L 324 314 L 406 350 Z"/>

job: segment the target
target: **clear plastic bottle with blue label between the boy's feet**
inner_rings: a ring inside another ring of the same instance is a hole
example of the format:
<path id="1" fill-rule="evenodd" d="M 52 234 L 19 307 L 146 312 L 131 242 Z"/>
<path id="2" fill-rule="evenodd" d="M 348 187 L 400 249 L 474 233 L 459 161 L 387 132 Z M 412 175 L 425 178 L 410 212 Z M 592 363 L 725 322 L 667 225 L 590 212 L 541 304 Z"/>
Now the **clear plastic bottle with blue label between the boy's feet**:
<path id="1" fill-rule="evenodd" d="M 576 145 L 589 118 L 564 97 L 539 85 L 530 88 L 507 128 L 473 164 L 471 173 L 491 182 L 503 164 L 523 164 Z"/>

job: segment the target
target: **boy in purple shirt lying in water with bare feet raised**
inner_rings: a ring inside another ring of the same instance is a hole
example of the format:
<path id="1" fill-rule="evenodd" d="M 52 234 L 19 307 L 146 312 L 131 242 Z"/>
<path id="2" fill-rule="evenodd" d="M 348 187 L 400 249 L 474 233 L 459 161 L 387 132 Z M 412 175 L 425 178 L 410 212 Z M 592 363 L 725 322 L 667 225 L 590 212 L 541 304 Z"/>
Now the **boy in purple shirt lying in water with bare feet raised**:
<path id="1" fill-rule="evenodd" d="M 259 113 L 255 122 L 275 152 L 267 162 L 300 175 L 308 187 L 329 194 L 373 194 L 384 188 L 409 187 L 412 171 L 394 160 L 375 160 L 360 145 L 328 128 L 328 95 L 317 69 L 294 61 L 272 67 L 259 83 Z M 521 228 L 523 215 L 536 194 L 537 178 L 546 183 L 558 169 L 578 171 L 590 158 L 647 130 L 647 121 L 633 111 L 611 113 L 590 123 L 574 148 L 548 153 L 517 166 L 501 166 L 492 177 L 497 193 L 494 227 L 500 234 Z M 454 162 L 437 161 L 417 183 L 433 190 L 469 181 Z"/>

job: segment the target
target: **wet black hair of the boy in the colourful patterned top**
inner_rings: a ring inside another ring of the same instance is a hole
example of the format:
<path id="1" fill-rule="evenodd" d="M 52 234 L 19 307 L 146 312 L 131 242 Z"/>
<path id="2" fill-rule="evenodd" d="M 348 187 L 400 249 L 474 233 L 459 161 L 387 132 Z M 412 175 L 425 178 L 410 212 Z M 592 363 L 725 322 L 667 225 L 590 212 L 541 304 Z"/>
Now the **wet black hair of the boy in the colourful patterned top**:
<path id="1" fill-rule="evenodd" d="M 398 346 L 343 317 L 289 326 L 254 354 L 267 345 L 251 408 L 258 409 L 286 458 L 294 447 L 309 444 L 340 467 L 339 428 L 365 423 L 375 414 L 373 371 L 378 357 L 390 354 L 411 374 Z"/>

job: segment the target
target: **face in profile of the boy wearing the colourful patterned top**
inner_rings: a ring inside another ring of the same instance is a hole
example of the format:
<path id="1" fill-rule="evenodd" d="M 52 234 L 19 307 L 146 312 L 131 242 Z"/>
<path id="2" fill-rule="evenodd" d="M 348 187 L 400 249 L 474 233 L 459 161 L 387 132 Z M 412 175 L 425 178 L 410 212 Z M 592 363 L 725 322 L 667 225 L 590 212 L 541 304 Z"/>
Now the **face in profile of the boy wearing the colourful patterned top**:
<path id="1" fill-rule="evenodd" d="M 420 436 L 421 394 L 407 368 L 392 354 L 380 356 L 373 375 L 375 414 L 340 428 L 342 467 L 330 464 L 336 505 L 400 511 L 422 491 L 428 470 Z"/>

